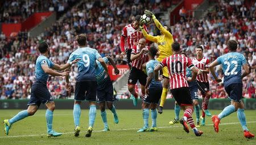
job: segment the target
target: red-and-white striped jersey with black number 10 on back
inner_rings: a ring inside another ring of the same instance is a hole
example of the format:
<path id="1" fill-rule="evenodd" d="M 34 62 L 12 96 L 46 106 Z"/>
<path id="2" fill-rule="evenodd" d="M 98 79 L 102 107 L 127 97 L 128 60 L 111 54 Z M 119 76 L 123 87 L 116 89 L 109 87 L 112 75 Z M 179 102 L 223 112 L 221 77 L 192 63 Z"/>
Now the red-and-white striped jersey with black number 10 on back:
<path id="1" fill-rule="evenodd" d="M 192 69 L 194 67 L 191 59 L 181 54 L 174 54 L 164 58 L 160 65 L 168 68 L 171 89 L 188 87 L 186 68 Z"/>

